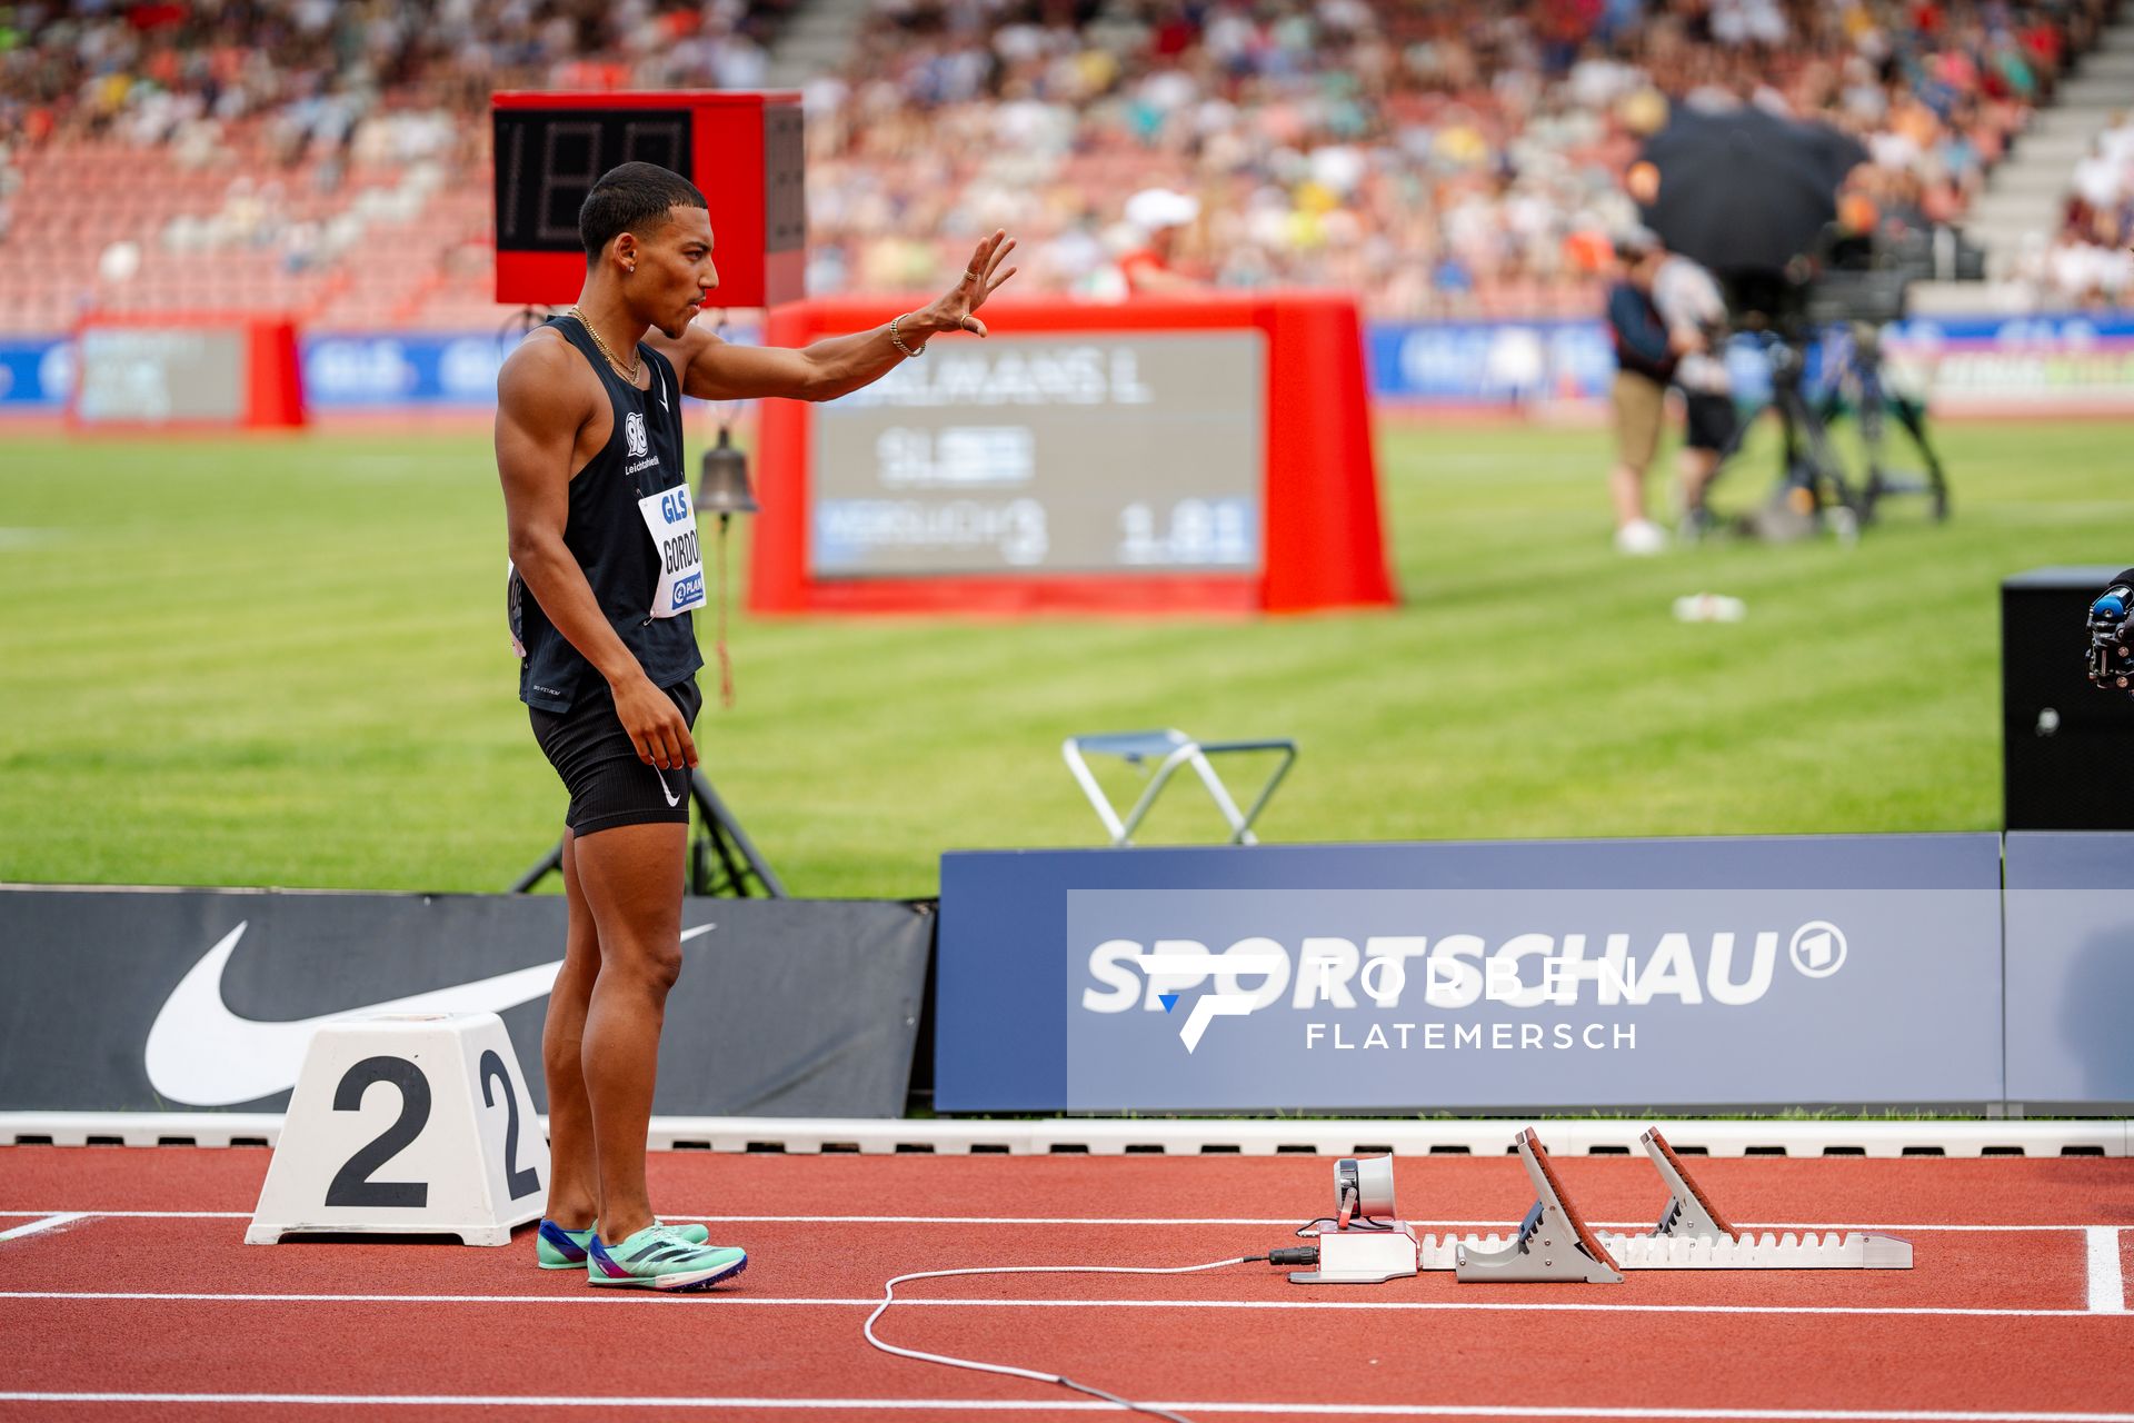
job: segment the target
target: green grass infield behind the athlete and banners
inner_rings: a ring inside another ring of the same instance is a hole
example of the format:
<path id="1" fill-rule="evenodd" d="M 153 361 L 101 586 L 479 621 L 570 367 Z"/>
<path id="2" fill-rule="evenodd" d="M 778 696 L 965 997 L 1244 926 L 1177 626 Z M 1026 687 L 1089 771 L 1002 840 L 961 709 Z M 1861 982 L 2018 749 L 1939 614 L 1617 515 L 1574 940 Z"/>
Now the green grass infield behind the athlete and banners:
<path id="1" fill-rule="evenodd" d="M 736 527 L 740 695 L 706 668 L 698 745 L 802 896 L 1097 845 L 1061 738 L 1150 725 L 1297 738 L 1265 841 L 1993 830 L 2000 580 L 2134 563 L 2125 427 L 1938 437 L 1948 525 L 1899 501 L 1857 546 L 1624 559 L 1605 431 L 1389 425 L 1402 606 L 1359 614 L 755 619 Z M 1763 499 L 1771 444 L 1722 503 Z M 1746 621 L 1677 623 L 1699 591 Z M 561 813 L 482 435 L 6 437 L 0 879 L 501 890 Z M 1221 830 L 1180 783 L 1142 843 Z"/>

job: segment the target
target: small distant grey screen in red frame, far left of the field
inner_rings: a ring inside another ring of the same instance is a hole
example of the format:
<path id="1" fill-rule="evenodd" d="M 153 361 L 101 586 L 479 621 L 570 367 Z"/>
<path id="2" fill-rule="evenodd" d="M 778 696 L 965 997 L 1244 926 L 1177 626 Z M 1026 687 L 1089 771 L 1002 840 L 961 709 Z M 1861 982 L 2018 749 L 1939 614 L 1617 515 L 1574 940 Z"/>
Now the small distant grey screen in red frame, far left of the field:
<path id="1" fill-rule="evenodd" d="M 245 414 L 245 333 L 90 326 L 81 333 L 81 420 L 237 422 Z"/>

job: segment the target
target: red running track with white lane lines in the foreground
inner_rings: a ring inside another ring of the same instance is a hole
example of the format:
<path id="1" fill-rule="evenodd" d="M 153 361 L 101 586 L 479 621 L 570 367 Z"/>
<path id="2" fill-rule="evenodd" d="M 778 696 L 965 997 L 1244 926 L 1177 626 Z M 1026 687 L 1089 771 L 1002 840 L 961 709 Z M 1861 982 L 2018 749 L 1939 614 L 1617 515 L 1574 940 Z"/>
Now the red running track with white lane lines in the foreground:
<path id="1" fill-rule="evenodd" d="M 1665 1203 L 1643 1158 L 1556 1165 L 1596 1225 L 1645 1229 Z M 341 1417 L 427 1400 L 373 1412 L 585 1419 L 608 1408 L 529 1400 L 606 1400 L 627 1417 L 1086 1419 L 1108 1410 L 877 1353 L 860 1323 L 905 1272 L 1263 1254 L 1332 1195 L 1312 1156 L 657 1154 L 662 1210 L 715 1220 L 751 1265 L 732 1289 L 653 1297 L 534 1269 L 525 1231 L 508 1250 L 245 1246 L 265 1169 L 267 1152 L 243 1148 L 0 1148 L 0 1231 L 90 1212 L 0 1240 L 0 1417 Z M 1613 1286 L 1423 1274 L 1302 1289 L 1265 1265 L 980 1276 L 903 1286 L 915 1304 L 881 1333 L 1193 1419 L 2134 1423 L 2134 1161 L 1697 1169 L 1743 1227 L 1884 1227 L 1912 1240 L 1916 1267 Z M 1404 1158 L 1398 1188 L 1423 1229 L 1511 1229 L 1530 1199 L 1509 1156 Z"/>

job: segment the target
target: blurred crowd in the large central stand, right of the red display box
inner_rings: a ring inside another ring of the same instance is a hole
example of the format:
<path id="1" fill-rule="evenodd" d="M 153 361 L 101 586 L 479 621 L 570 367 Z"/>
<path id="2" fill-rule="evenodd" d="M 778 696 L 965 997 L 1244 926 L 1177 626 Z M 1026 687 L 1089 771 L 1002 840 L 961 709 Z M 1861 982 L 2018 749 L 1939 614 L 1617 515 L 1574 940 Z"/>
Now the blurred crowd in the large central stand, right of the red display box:
<path id="1" fill-rule="evenodd" d="M 1673 105 L 1857 134 L 1882 222 L 1961 220 L 2104 0 L 875 0 L 809 90 L 822 286 L 909 286 L 1009 226 L 1033 284 L 1120 286 L 1137 188 L 1201 198 L 1174 265 L 1381 316 L 1590 307 L 1624 169 Z"/>

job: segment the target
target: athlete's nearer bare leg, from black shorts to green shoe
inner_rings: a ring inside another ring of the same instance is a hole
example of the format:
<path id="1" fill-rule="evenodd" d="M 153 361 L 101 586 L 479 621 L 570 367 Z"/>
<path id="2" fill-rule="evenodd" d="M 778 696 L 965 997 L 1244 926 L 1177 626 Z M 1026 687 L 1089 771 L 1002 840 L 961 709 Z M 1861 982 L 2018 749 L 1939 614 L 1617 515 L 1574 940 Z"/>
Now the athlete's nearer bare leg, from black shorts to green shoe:
<path id="1" fill-rule="evenodd" d="M 681 975 L 681 888 L 689 826 L 615 826 L 574 843 L 578 883 L 600 934 L 600 973 L 578 1060 L 593 1118 L 600 1235 L 653 1222 L 644 1137 L 659 1080 L 659 1026 Z"/>

